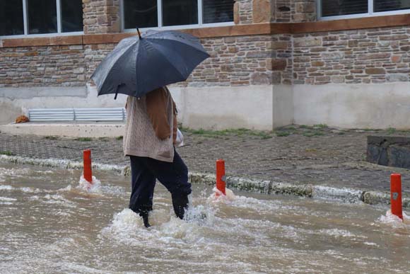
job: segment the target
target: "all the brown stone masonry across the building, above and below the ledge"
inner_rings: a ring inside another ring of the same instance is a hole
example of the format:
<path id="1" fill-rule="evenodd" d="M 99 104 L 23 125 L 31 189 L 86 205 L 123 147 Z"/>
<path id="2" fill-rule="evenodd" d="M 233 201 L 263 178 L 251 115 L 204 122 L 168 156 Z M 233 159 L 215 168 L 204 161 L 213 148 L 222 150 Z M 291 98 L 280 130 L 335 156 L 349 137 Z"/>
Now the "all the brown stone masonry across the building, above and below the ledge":
<path id="1" fill-rule="evenodd" d="M 238 0 L 235 8 L 239 24 L 315 18 L 312 0 Z M 119 0 L 83 0 L 83 11 L 85 33 L 119 31 Z M 410 81 L 410 26 L 201 42 L 211 58 L 181 86 Z M 114 43 L 0 47 L 0 87 L 83 86 L 114 47 Z"/>

